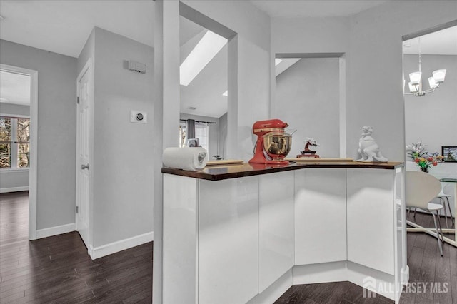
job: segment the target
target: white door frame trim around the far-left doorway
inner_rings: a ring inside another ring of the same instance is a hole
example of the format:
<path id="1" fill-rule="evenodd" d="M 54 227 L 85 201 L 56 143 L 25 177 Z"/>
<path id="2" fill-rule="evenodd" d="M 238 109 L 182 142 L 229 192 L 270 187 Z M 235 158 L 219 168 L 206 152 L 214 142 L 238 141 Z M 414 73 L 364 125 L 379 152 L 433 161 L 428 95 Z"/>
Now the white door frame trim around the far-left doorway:
<path id="1" fill-rule="evenodd" d="M 30 77 L 29 98 L 30 98 L 30 121 L 29 121 L 29 151 L 26 156 L 29 164 L 29 240 L 36 239 L 36 168 L 37 168 L 37 146 L 38 146 L 38 71 L 24 69 L 18 66 L 0 64 L 0 71 L 15 75 Z M 19 118 L 19 119 L 17 119 Z M 17 117 L 16 122 L 21 117 Z M 20 143 L 18 144 L 18 146 Z M 24 143 L 23 143 L 24 145 Z M 20 163 L 21 161 L 19 161 Z M 14 163 L 17 164 L 16 161 Z"/>

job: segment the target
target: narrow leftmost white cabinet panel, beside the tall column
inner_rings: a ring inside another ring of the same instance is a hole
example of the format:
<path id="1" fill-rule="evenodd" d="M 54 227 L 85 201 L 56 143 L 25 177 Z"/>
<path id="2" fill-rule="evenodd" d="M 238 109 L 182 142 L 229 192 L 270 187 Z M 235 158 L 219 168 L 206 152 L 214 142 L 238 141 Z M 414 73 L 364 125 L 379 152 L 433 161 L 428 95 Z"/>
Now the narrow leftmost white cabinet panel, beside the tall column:
<path id="1" fill-rule="evenodd" d="M 196 190 L 195 178 L 164 174 L 164 304 L 196 303 Z"/>

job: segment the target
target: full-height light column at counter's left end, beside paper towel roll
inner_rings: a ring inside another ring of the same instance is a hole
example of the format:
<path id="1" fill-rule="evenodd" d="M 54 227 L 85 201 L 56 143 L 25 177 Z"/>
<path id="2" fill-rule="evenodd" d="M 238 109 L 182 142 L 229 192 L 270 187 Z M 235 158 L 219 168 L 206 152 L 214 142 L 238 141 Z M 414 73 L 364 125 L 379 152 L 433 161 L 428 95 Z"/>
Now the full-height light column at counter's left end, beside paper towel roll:
<path id="1" fill-rule="evenodd" d="M 154 20 L 154 267 L 153 303 L 162 303 L 162 153 L 178 146 L 179 1 L 156 0 Z"/>

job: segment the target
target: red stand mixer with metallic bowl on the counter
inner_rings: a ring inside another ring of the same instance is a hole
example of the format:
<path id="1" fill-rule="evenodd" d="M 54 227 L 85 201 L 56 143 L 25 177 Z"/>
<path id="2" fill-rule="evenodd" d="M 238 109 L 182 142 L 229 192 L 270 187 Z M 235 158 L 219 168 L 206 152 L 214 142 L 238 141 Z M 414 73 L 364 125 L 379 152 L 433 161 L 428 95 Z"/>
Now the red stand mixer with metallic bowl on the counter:
<path id="1" fill-rule="evenodd" d="M 256 121 L 252 133 L 256 134 L 257 142 L 254 147 L 254 157 L 249 163 L 265 165 L 288 165 L 284 158 L 291 151 L 292 136 L 284 132 L 288 124 L 279 119 Z"/>

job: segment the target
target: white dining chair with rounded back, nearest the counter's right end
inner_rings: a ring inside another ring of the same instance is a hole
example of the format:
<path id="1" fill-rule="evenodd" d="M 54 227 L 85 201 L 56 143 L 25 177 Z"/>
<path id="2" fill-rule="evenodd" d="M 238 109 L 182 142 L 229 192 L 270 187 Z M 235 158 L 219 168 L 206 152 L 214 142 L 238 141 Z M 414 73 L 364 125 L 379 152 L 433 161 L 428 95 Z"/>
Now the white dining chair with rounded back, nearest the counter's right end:
<path id="1" fill-rule="evenodd" d="M 441 256 L 443 256 L 443 247 L 441 245 L 441 243 L 443 243 L 443 230 L 441 230 L 439 216 L 439 211 L 443 208 L 443 205 L 437 203 L 430 203 L 430 201 L 433 198 L 436 198 L 438 193 L 441 191 L 440 181 L 438 180 L 438 178 L 428 173 L 420 171 L 406 171 L 405 191 L 406 208 L 419 208 L 425 211 L 426 213 L 430 213 L 433 216 L 433 223 L 435 223 L 436 230 L 436 239 L 438 240 L 438 248 L 440 250 Z"/>

